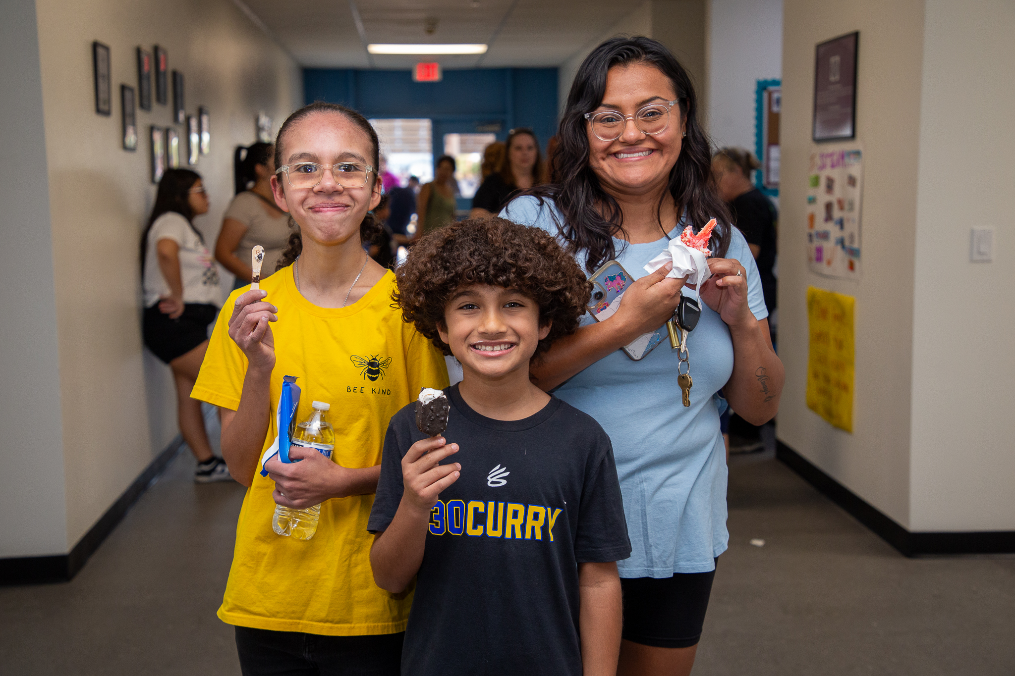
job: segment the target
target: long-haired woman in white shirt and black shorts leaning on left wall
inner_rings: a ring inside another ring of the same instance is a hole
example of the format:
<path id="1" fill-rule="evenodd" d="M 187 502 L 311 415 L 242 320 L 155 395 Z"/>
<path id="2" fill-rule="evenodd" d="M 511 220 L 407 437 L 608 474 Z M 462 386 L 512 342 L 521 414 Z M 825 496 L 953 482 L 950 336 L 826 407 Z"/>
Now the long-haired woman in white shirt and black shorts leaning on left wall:
<path id="1" fill-rule="evenodd" d="M 201 402 L 190 397 L 208 348 L 208 324 L 221 301 L 218 268 L 194 227 L 194 217 L 208 213 L 208 207 L 198 173 L 168 169 L 141 235 L 141 334 L 148 350 L 173 370 L 180 434 L 198 461 L 198 483 L 231 479 L 225 462 L 211 451 Z"/>

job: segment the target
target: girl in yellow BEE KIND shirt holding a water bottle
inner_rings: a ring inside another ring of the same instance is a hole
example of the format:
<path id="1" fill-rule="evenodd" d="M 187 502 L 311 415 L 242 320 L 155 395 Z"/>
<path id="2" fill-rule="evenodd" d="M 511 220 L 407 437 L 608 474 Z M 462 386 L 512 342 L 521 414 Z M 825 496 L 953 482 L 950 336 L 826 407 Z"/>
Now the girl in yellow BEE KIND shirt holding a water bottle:
<path id="1" fill-rule="evenodd" d="M 278 208 L 296 224 L 278 272 L 235 290 L 212 331 L 193 396 L 222 411 L 222 455 L 248 486 L 218 616 L 235 626 L 243 673 L 398 674 L 412 597 L 374 582 L 366 531 L 391 417 L 421 388 L 448 386 L 444 357 L 392 306 L 395 275 L 363 250 L 378 228 L 378 136 L 350 108 L 313 103 L 275 142 Z M 296 421 L 331 404 L 330 458 L 279 434 L 282 378 L 301 389 Z M 262 473 L 262 468 L 267 475 Z M 276 505 L 321 505 L 309 540 L 276 535 Z"/>

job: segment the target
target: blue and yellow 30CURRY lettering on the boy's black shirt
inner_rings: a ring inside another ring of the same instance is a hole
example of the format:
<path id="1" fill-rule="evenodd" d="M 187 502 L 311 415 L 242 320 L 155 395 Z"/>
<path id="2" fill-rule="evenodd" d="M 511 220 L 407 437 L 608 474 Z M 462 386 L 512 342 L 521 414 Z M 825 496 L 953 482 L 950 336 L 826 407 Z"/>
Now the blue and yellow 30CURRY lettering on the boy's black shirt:
<path id="1" fill-rule="evenodd" d="M 502 537 L 505 540 L 553 541 L 553 525 L 559 508 L 521 503 L 496 503 L 481 500 L 438 500 L 430 510 L 432 535 L 471 535 Z M 485 516 L 485 522 L 484 522 Z"/>

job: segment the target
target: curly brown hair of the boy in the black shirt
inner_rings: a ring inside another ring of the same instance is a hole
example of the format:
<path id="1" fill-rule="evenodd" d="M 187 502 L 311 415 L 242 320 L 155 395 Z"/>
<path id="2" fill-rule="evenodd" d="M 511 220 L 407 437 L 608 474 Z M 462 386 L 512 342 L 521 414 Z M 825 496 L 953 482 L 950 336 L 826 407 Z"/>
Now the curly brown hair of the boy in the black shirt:
<path id="1" fill-rule="evenodd" d="M 437 326 L 445 327 L 445 307 L 463 286 L 518 289 L 536 301 L 539 325 L 550 324 L 536 355 L 574 332 L 592 289 L 579 265 L 546 231 L 497 217 L 470 218 L 425 234 L 395 275 L 393 299 L 402 319 L 445 355 L 452 352 Z"/>

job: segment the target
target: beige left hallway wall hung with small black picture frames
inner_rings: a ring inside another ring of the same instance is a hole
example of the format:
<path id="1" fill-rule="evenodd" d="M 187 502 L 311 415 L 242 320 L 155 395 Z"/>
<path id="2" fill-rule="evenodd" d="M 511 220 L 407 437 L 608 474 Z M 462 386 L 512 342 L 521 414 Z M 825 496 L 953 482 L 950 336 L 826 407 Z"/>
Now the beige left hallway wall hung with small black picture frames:
<path id="1" fill-rule="evenodd" d="M 210 109 L 211 154 L 194 167 L 211 198 L 195 223 L 209 245 L 232 194 L 233 148 L 255 140 L 260 109 L 277 129 L 301 101 L 301 79 L 229 0 L 38 0 L 37 8 L 71 547 L 177 432 L 168 370 L 141 347 L 138 262 L 155 193 L 148 131 L 171 126 L 172 74 L 168 104 L 139 108 L 138 150 L 122 150 L 120 84 L 137 87 L 135 48 L 164 47 L 171 70 L 185 74 L 188 112 Z M 112 50 L 110 118 L 94 112 L 92 40 Z"/>

